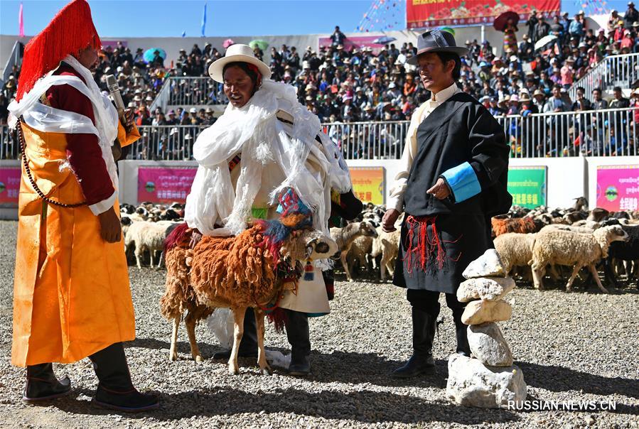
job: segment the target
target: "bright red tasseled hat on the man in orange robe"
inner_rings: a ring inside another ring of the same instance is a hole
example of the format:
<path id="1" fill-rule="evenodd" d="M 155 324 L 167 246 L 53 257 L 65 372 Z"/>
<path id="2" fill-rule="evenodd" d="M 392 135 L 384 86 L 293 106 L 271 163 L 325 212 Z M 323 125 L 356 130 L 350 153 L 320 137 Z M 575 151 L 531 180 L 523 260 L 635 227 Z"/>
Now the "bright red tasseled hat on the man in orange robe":
<path id="1" fill-rule="evenodd" d="M 16 100 L 20 101 L 38 79 L 57 68 L 67 55 L 88 46 L 100 50 L 100 36 L 95 31 L 87 1 L 73 0 L 24 48 Z"/>

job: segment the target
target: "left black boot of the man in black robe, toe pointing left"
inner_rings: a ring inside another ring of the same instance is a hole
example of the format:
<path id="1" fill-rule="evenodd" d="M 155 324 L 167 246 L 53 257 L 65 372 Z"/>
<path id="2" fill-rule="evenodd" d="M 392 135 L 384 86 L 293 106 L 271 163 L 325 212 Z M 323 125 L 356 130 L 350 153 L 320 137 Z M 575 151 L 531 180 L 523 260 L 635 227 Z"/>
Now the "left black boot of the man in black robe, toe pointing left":
<path id="1" fill-rule="evenodd" d="M 406 364 L 393 371 L 391 375 L 394 378 L 411 379 L 431 371 L 435 366 L 433 340 L 435 338 L 436 317 L 437 315 L 432 315 L 419 308 L 412 308 L 413 355 Z"/>

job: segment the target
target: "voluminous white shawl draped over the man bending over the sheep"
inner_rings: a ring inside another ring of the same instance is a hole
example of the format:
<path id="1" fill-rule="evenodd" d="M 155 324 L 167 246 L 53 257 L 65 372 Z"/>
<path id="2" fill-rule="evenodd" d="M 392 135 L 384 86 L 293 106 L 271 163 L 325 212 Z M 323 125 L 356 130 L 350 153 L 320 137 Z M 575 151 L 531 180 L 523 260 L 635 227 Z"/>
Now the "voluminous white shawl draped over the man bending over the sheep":
<path id="1" fill-rule="evenodd" d="M 293 116 L 292 127 L 276 118 L 279 109 Z M 315 141 L 318 134 L 321 149 Z M 234 189 L 228 161 L 238 152 L 242 161 Z M 326 183 L 306 167 L 311 153 L 328 178 Z M 313 226 L 320 231 L 328 232 L 330 188 L 339 192 L 352 188 L 348 168 L 335 144 L 321 134 L 318 117 L 298 102 L 294 87 L 272 80 L 264 80 L 245 106 L 229 104 L 220 119 L 198 136 L 193 157 L 200 165 L 186 197 L 185 220 L 206 235 L 237 235 L 246 229 L 267 163 L 276 163 L 287 176 L 271 193 L 272 204 L 282 189 L 293 188 L 313 210 Z M 216 222 L 224 227 L 215 229 Z"/>

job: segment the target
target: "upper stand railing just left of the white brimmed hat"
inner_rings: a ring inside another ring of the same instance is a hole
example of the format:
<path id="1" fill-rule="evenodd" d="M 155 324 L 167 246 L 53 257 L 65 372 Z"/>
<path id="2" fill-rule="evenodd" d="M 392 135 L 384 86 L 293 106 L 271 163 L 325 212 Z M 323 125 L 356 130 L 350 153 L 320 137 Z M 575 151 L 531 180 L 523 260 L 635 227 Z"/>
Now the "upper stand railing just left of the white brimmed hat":
<path id="1" fill-rule="evenodd" d="M 210 106 L 227 104 L 222 84 L 210 77 L 168 77 L 151 104 L 151 112 L 168 106 Z"/>

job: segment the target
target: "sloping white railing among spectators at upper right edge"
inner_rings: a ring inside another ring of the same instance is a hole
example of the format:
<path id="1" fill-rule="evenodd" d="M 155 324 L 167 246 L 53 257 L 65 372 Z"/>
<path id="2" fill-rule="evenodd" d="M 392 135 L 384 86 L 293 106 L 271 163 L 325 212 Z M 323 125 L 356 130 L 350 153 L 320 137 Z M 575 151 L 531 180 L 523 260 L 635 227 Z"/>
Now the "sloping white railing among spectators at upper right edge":
<path id="1" fill-rule="evenodd" d="M 586 97 L 590 97 L 593 89 L 603 91 L 613 87 L 630 88 L 639 79 L 639 53 L 610 55 L 603 58 L 584 77 L 573 83 L 568 90 L 570 99 L 576 99 L 577 88 L 586 89 Z"/>

